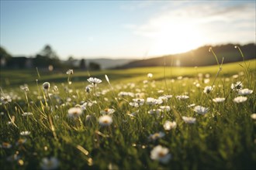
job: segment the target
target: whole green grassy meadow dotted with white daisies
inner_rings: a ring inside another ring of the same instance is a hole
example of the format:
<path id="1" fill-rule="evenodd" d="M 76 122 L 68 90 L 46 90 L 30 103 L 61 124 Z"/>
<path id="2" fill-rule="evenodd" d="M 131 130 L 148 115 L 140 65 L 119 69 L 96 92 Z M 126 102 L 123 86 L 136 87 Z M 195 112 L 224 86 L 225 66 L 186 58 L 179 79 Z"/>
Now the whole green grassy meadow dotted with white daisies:
<path id="1" fill-rule="evenodd" d="M 256 59 L 218 70 L 1 70 L 1 168 L 253 169 Z"/>

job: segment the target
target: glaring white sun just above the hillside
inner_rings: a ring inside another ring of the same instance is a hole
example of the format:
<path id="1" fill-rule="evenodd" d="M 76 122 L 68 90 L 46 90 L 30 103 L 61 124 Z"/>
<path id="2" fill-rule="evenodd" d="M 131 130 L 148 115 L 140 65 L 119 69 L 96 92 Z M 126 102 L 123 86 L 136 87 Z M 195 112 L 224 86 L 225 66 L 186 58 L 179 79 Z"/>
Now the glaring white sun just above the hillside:
<path id="1" fill-rule="evenodd" d="M 154 38 L 148 53 L 150 56 L 185 53 L 202 46 L 203 42 L 199 28 L 185 24 L 162 26 Z"/>

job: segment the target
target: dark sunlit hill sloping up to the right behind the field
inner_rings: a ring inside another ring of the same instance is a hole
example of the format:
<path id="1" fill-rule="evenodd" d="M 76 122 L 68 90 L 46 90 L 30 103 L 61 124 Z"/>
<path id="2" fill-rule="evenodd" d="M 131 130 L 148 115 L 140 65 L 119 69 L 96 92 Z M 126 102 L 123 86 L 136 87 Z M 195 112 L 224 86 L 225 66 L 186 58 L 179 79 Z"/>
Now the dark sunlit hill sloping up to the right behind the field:
<path id="1" fill-rule="evenodd" d="M 243 60 L 238 49 L 234 48 L 234 44 L 226 44 L 220 46 L 212 46 L 214 53 L 221 63 L 233 63 Z M 150 59 L 140 59 L 118 66 L 116 69 L 127 69 L 133 67 L 145 67 L 145 66 L 164 66 L 164 61 L 168 66 L 210 66 L 216 64 L 216 59 L 213 53 L 209 53 L 211 46 L 202 46 L 198 49 L 190 50 L 187 53 L 179 53 L 175 55 L 160 56 Z M 256 45 L 249 43 L 244 46 L 240 46 L 240 49 L 244 53 L 244 59 L 255 59 Z"/>

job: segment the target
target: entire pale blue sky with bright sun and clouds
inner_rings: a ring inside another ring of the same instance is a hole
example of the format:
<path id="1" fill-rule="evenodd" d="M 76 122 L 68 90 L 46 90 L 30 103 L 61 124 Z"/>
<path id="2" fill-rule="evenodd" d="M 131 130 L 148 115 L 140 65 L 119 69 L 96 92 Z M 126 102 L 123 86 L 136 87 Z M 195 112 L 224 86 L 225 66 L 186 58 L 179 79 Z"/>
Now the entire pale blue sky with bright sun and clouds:
<path id="1" fill-rule="evenodd" d="M 0 45 L 61 59 L 145 59 L 204 45 L 255 43 L 255 1 L 3 1 Z"/>

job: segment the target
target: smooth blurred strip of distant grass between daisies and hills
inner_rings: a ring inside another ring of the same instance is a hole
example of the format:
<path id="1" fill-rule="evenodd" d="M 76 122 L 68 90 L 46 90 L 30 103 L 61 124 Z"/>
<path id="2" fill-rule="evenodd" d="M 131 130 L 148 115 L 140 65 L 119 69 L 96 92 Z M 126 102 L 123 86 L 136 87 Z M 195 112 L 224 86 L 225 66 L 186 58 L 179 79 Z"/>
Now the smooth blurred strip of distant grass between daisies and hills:
<path id="1" fill-rule="evenodd" d="M 256 59 L 246 62 L 250 66 L 252 71 L 256 70 Z M 221 74 L 223 76 L 231 76 L 234 73 L 244 70 L 242 66 L 243 62 L 228 63 L 223 65 Z M 147 73 L 153 73 L 154 80 L 171 79 L 177 76 L 196 76 L 198 73 L 209 73 L 211 76 L 215 75 L 218 66 L 202 66 L 202 67 L 171 67 L 171 66 L 157 66 L 157 67 L 142 67 L 127 70 L 102 70 L 97 72 L 88 72 L 81 70 L 74 70 L 72 75 L 72 82 L 85 85 L 89 76 L 95 76 L 98 78 L 104 78 L 105 74 L 109 76 L 112 83 L 115 82 L 129 82 L 140 81 L 147 76 Z M 36 85 L 36 80 L 39 82 L 49 81 L 51 83 L 64 83 L 67 82 L 67 70 L 59 70 L 50 72 L 47 70 L 39 70 L 40 77 L 37 74 L 36 68 L 34 70 L 1 70 L 1 87 L 17 87 L 22 83 L 29 85 Z"/>

